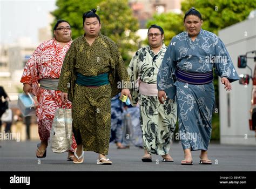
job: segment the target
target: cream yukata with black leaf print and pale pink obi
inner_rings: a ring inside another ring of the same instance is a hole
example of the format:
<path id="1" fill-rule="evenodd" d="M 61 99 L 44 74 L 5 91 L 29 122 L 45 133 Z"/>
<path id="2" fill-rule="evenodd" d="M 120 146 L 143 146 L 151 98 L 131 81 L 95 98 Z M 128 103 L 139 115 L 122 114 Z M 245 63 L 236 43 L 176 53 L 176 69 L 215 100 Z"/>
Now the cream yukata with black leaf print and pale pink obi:
<path id="1" fill-rule="evenodd" d="M 165 44 L 157 54 L 150 46 L 139 49 L 128 68 L 131 82 L 139 85 L 135 85 L 139 91 L 134 87 L 131 96 L 132 105 L 137 102 L 140 105 L 144 149 L 158 155 L 169 153 L 177 120 L 176 103 L 167 99 L 164 104 L 160 104 L 157 96 L 157 73 L 166 49 Z"/>

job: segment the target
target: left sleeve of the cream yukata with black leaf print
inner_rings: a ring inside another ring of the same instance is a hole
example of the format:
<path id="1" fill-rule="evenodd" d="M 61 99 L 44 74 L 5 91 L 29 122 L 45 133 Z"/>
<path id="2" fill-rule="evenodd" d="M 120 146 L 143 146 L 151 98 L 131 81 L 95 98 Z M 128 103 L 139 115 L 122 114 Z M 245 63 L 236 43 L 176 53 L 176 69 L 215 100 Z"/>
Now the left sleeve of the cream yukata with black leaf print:
<path id="1" fill-rule="evenodd" d="M 131 105 L 132 106 L 136 106 L 138 101 L 139 101 L 139 86 L 138 83 L 139 81 L 138 79 L 138 51 L 136 52 L 136 54 L 132 57 L 131 62 L 129 64 L 129 67 L 127 69 L 128 75 L 130 77 L 130 82 L 131 82 L 131 87 L 130 87 L 130 92 L 131 92 L 131 97 L 132 97 L 132 101 L 131 101 Z"/>

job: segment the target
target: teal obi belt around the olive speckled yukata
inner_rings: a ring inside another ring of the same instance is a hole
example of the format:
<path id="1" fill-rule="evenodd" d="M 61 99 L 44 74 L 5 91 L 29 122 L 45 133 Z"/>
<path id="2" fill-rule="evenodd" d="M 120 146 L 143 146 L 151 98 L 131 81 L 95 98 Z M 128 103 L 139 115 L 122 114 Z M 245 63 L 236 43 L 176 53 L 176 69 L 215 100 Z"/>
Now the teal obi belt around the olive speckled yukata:
<path id="1" fill-rule="evenodd" d="M 77 72 L 76 83 L 82 86 L 102 86 L 109 84 L 109 74 L 103 73 L 98 76 L 84 76 Z"/>

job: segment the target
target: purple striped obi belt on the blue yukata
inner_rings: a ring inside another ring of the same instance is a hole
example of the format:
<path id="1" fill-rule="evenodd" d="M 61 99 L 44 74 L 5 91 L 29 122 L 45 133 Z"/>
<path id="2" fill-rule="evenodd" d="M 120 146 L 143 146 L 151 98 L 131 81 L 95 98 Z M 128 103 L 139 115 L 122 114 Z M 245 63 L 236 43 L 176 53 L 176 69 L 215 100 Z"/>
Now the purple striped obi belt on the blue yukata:
<path id="1" fill-rule="evenodd" d="M 193 85 L 204 85 L 207 83 L 211 83 L 213 80 L 212 71 L 207 73 L 192 73 L 177 69 L 175 75 L 179 82 Z"/>

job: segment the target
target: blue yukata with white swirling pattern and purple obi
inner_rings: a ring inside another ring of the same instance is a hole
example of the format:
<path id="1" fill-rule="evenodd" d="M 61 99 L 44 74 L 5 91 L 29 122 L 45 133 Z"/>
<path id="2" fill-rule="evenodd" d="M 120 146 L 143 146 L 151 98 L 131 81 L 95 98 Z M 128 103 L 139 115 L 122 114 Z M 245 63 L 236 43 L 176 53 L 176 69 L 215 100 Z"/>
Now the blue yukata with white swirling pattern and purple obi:
<path id="1" fill-rule="evenodd" d="M 213 75 L 213 68 L 230 82 L 239 79 L 224 43 L 214 33 L 201 30 L 194 41 L 186 31 L 172 38 L 159 69 L 157 87 L 177 100 L 176 137 L 184 150 L 208 149 L 215 96 L 213 76 L 210 80 L 205 76 Z M 198 78 L 204 79 L 198 83 Z"/>

